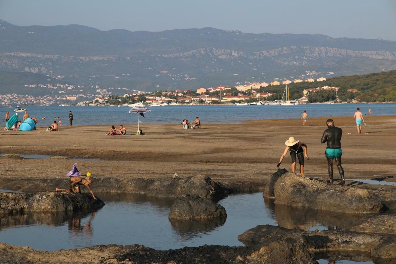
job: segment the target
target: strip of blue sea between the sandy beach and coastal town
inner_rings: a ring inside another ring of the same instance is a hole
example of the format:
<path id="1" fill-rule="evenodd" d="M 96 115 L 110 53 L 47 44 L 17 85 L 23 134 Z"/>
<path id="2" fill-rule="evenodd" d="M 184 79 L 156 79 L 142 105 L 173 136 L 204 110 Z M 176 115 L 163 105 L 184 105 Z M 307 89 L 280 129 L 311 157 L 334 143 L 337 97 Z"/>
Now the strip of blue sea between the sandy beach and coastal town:
<path id="1" fill-rule="evenodd" d="M 180 105 L 148 107 L 151 113 L 141 117 L 142 124 L 177 124 L 183 119 L 193 121 L 199 117 L 202 123 L 234 123 L 257 119 L 287 119 L 300 118 L 304 110 L 309 117 L 337 117 L 353 116 L 356 107 L 360 107 L 363 114 L 371 108 L 372 115 L 395 115 L 396 104 L 308 104 L 308 105 Z M 74 115 L 73 125 L 96 124 L 137 124 L 137 113 L 128 113 L 131 107 L 109 106 L 26 106 L 30 117 L 39 119 L 38 126 L 51 124 L 55 117 L 60 117 L 64 125 L 69 124 L 69 111 Z M 13 108 L 0 107 L 3 112 L 9 110 L 13 115 Z M 18 114 L 20 119 L 23 112 Z M 42 117 L 46 117 L 45 120 Z M 5 118 L 0 124 L 5 126 Z"/>

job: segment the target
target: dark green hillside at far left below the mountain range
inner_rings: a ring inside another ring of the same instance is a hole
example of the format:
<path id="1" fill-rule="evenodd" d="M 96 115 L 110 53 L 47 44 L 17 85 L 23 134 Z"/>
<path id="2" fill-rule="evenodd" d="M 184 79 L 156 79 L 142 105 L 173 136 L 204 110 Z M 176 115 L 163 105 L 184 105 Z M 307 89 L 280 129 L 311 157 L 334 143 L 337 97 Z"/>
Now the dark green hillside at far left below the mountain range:
<path id="1" fill-rule="evenodd" d="M 25 84 L 72 84 L 62 80 L 57 80 L 38 73 L 15 73 L 0 71 L 0 94 L 29 94 L 34 96 L 42 96 L 51 94 L 53 89 L 41 87 L 25 87 Z"/>

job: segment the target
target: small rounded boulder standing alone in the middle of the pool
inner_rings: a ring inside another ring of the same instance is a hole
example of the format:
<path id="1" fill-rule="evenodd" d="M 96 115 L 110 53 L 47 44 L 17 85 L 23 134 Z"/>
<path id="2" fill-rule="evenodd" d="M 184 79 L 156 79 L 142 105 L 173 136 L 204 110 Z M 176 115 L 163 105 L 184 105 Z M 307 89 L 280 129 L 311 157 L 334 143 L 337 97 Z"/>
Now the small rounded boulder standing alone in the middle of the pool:
<path id="1" fill-rule="evenodd" d="M 173 219 L 213 219 L 227 218 L 221 205 L 198 195 L 182 195 L 171 207 L 169 218 Z"/>

